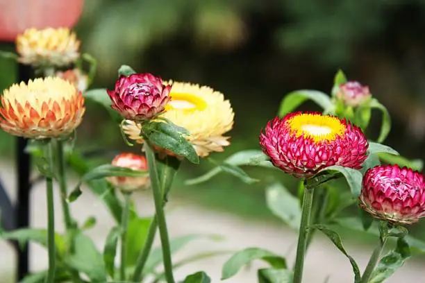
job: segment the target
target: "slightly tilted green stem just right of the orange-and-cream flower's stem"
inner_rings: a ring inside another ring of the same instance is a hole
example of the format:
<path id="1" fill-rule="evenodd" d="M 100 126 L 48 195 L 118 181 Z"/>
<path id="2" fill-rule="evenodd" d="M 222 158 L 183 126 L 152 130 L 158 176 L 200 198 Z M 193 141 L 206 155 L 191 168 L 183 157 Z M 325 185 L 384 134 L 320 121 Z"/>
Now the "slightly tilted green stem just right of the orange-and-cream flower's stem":
<path id="1" fill-rule="evenodd" d="M 71 212 L 69 211 L 69 205 L 67 202 L 67 179 L 65 175 L 65 158 L 63 156 L 63 141 L 56 140 L 56 162 L 58 167 L 58 182 L 60 187 L 60 194 L 63 207 L 63 218 L 65 221 L 65 228 L 67 231 L 73 228 L 73 221 Z"/>

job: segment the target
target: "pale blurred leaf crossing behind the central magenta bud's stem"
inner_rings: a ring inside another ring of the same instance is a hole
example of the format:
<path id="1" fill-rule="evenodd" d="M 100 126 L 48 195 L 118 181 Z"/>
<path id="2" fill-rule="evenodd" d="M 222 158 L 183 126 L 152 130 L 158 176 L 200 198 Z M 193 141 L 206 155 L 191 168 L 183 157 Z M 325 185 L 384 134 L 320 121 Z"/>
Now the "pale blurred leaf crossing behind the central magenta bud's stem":
<path id="1" fill-rule="evenodd" d="M 208 239 L 212 239 L 215 241 L 221 239 L 221 237 L 217 235 L 205 235 L 205 234 L 190 234 L 190 235 L 185 235 L 181 237 L 175 237 L 174 239 L 170 239 L 170 251 L 173 254 L 174 252 L 177 252 L 178 250 L 186 246 L 188 243 L 190 243 L 194 239 L 199 239 L 202 237 L 203 238 L 206 237 Z M 162 248 L 161 247 L 154 248 L 149 254 L 149 257 L 146 261 L 144 274 L 152 273 L 155 270 L 156 266 L 158 266 L 159 264 L 162 264 L 162 262 L 163 262 Z"/>

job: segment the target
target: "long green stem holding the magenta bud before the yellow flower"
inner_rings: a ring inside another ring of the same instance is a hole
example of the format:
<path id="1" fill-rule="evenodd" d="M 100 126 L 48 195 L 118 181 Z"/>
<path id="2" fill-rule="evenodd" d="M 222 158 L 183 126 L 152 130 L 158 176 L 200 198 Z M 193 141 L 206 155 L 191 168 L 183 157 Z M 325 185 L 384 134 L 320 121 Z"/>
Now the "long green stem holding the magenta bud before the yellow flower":
<path id="1" fill-rule="evenodd" d="M 174 283 L 172 257 L 169 247 L 169 238 L 167 231 L 167 222 L 165 221 L 165 213 L 163 209 L 163 192 L 161 191 L 160 179 L 158 176 L 158 167 L 156 166 L 155 153 L 153 153 L 149 142 L 144 143 L 146 152 L 149 175 L 151 177 L 153 200 L 155 202 L 156 221 L 158 221 L 158 228 L 160 232 L 161 246 L 163 248 L 163 261 L 165 269 L 165 277 L 167 283 Z"/>

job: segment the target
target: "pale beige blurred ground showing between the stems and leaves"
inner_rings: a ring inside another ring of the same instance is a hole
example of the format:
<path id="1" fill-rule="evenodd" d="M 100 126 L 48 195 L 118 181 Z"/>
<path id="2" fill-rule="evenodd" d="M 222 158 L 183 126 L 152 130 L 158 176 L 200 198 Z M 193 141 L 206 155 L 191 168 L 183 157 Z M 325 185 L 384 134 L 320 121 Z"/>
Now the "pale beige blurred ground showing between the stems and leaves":
<path id="1" fill-rule="evenodd" d="M 15 175 L 13 166 L 10 164 L 0 164 L 0 178 L 5 182 L 10 196 L 15 198 Z M 153 212 L 153 205 L 148 194 L 136 196 L 137 209 L 140 215 L 149 216 Z M 31 225 L 35 228 L 46 227 L 46 199 L 44 183 L 38 184 L 31 193 Z M 60 212 L 59 195 L 56 194 L 56 221 L 58 230 L 63 230 L 62 214 Z M 76 203 L 72 203 L 72 214 L 81 222 L 89 216 L 97 218 L 97 225 L 88 231 L 94 239 L 99 250 L 103 249 L 103 243 L 113 219 L 108 211 L 90 192 L 78 198 Z M 222 241 L 210 241 L 207 239 L 195 240 L 185 246 L 181 252 L 174 257 L 175 260 L 187 257 L 194 252 L 207 250 L 240 250 L 248 247 L 261 247 L 288 255 L 288 261 L 292 264 L 294 260 L 294 245 L 296 244 L 296 234 L 288 228 L 270 225 L 268 223 L 250 222 L 232 214 L 213 212 L 202 207 L 197 207 L 193 203 L 183 203 L 181 200 L 171 200 L 167 209 L 167 222 L 171 237 L 183 234 L 221 234 Z M 158 243 L 158 239 L 157 239 Z M 349 253 L 358 261 L 363 270 L 369 259 L 370 252 L 367 247 L 347 246 Z M 222 264 L 229 255 L 220 255 L 209 259 L 196 261 L 176 271 L 176 280 L 181 280 L 190 273 L 196 271 L 206 271 L 213 283 L 221 282 Z M 15 255 L 12 248 L 6 242 L 0 241 L 0 283 L 10 282 Z M 229 283 L 256 283 L 256 269 L 266 266 L 260 261 L 255 261 L 250 268 L 244 268 L 238 275 L 224 282 Z M 41 270 L 47 267 L 47 252 L 39 246 L 31 245 L 31 269 Z M 353 282 L 351 266 L 333 244 L 324 237 L 316 237 L 306 258 L 305 283 L 322 283 L 330 275 L 328 283 L 349 283 Z M 424 263 L 410 259 L 403 268 L 399 269 L 395 275 L 387 280 L 387 283 L 403 282 L 425 282 Z"/>

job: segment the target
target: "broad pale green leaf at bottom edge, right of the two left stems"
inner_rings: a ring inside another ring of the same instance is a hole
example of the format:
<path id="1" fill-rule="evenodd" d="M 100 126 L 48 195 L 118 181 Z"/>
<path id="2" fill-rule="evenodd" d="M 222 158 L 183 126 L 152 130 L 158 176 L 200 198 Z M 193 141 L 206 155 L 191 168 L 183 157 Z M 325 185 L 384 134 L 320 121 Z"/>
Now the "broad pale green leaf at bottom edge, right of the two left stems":
<path id="1" fill-rule="evenodd" d="M 107 282 L 107 273 L 103 257 L 90 237 L 76 234 L 74 253 L 67 255 L 64 261 L 78 272 L 85 273 L 92 282 Z"/>

